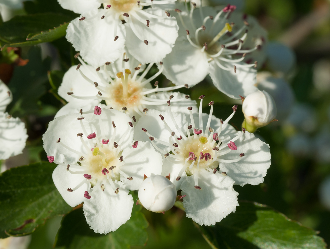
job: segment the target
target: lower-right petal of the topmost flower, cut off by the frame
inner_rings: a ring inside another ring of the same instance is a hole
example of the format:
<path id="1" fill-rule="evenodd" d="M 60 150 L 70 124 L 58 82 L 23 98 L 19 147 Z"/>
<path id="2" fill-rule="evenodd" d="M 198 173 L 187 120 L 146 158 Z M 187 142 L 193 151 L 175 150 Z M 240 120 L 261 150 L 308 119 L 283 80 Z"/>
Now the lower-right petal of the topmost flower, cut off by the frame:
<path id="1" fill-rule="evenodd" d="M 127 37 L 129 37 L 126 39 L 125 46 L 130 54 L 142 63 L 160 62 L 172 51 L 178 37 L 179 26 L 175 17 L 156 19 L 148 16 L 148 14 L 166 15 L 159 8 L 149 8 L 131 15 L 129 21 L 124 24 Z M 150 21 L 149 27 L 146 25 L 146 19 Z M 135 32 L 131 25 L 134 25 Z M 137 37 L 137 34 L 140 38 Z M 144 40 L 148 41 L 148 45 L 145 44 Z"/>

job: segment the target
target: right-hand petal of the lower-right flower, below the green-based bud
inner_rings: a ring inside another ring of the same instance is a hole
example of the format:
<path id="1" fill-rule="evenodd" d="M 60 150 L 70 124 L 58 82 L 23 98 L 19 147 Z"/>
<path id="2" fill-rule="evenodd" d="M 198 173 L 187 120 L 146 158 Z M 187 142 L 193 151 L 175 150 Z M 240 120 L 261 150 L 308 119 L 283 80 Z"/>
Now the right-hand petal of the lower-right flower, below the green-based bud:
<path id="1" fill-rule="evenodd" d="M 238 132 L 238 134 L 240 133 Z M 223 143 L 227 144 L 229 141 Z M 219 158 L 227 160 L 237 159 L 240 157 L 240 153 L 244 153 L 245 156 L 238 162 L 221 162 L 219 170 L 226 172 L 235 181 L 235 185 L 244 186 L 245 184 L 257 185 L 263 183 L 267 169 L 271 164 L 269 145 L 249 132 L 245 132 L 240 139 L 235 141 L 235 144 L 237 150 L 232 150 Z"/>

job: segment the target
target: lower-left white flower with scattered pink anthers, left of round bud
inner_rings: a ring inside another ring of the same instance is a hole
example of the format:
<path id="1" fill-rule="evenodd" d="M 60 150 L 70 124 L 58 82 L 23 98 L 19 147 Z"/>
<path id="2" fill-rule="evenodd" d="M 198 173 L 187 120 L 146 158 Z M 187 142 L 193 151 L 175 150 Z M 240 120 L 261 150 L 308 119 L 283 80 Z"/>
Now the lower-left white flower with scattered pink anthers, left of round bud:
<path id="1" fill-rule="evenodd" d="M 108 233 L 129 220 L 133 197 L 144 175 L 160 174 L 162 159 L 150 143 L 133 142 L 133 122 L 125 113 L 95 106 L 91 117 L 55 118 L 43 135 L 49 162 L 58 164 L 53 181 L 72 207 L 84 202 L 89 226 Z"/>

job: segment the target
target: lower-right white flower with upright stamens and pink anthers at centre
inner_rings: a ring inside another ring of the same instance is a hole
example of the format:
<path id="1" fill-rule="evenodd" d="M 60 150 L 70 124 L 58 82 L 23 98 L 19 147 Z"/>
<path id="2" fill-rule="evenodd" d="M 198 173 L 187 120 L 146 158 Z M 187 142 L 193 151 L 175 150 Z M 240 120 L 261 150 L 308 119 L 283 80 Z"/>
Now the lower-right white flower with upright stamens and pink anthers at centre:
<path id="1" fill-rule="evenodd" d="M 177 190 L 182 190 L 187 217 L 200 225 L 214 225 L 238 206 L 233 185 L 263 182 L 270 166 L 269 146 L 252 133 L 237 132 L 229 120 L 190 111 L 190 123 L 182 113 L 149 111 L 140 118 L 135 138 L 151 140 L 164 155 L 162 175 L 170 174 Z M 159 116 L 159 118 L 158 118 Z M 219 167 L 219 170 L 217 168 Z"/>

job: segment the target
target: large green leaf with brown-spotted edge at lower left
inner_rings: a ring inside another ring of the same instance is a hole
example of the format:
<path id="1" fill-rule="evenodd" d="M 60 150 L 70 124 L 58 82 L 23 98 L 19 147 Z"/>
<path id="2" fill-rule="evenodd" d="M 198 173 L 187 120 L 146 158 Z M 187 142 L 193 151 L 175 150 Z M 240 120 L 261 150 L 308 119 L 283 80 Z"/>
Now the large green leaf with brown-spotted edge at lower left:
<path id="1" fill-rule="evenodd" d="M 66 204 L 52 180 L 56 165 L 36 163 L 0 175 L 0 237 L 32 233 L 46 219 L 63 215 Z"/>

